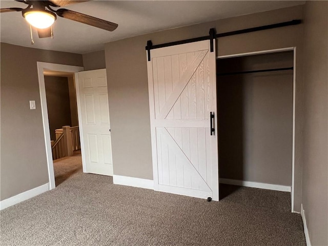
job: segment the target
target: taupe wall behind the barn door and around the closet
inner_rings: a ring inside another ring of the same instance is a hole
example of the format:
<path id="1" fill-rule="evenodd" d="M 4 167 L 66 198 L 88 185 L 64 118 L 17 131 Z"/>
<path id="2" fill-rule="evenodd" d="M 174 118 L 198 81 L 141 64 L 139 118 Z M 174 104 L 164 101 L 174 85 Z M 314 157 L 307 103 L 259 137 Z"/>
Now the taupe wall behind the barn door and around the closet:
<path id="1" fill-rule="evenodd" d="M 303 6 L 264 13 L 243 15 L 215 22 L 166 30 L 127 38 L 106 44 L 106 68 L 111 117 L 114 174 L 153 179 L 150 119 L 145 46 L 208 35 L 210 28 L 217 33 L 255 26 L 302 19 Z M 301 201 L 301 95 L 302 95 L 303 25 L 264 30 L 218 39 L 218 54 L 297 47 L 296 60 L 296 160 L 295 210 Z"/>

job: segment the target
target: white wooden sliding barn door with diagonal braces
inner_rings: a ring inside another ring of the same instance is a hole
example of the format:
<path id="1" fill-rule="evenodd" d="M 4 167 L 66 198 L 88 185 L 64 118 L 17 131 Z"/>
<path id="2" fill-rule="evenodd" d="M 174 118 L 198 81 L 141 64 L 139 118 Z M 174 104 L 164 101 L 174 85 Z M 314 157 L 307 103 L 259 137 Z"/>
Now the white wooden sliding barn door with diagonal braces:
<path id="1" fill-rule="evenodd" d="M 215 47 L 214 47 L 215 50 Z M 219 199 L 215 52 L 210 41 L 151 50 L 148 85 L 157 191 Z"/>

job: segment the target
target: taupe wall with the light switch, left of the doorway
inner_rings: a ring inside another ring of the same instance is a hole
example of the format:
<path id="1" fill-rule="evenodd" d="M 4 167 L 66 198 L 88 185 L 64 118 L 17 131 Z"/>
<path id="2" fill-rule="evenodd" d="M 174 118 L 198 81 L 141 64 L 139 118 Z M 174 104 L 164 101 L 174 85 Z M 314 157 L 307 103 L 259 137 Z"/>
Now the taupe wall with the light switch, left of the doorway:
<path id="1" fill-rule="evenodd" d="M 1 200 L 49 182 L 37 61 L 83 66 L 79 54 L 1 43 Z"/>

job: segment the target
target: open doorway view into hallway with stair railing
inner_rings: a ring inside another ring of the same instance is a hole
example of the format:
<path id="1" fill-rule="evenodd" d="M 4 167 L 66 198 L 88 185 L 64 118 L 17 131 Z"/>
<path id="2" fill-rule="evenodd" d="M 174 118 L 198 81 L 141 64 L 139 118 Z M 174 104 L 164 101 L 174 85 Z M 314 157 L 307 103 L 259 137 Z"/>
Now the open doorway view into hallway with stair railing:
<path id="1" fill-rule="evenodd" d="M 44 71 L 56 186 L 82 171 L 74 73 Z"/>

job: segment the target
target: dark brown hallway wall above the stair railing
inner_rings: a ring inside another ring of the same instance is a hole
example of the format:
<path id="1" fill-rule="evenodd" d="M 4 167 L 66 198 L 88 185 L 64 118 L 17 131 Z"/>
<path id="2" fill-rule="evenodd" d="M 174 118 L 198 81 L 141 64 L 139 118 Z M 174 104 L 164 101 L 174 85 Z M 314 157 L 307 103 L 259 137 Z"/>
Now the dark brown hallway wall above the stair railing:
<path id="1" fill-rule="evenodd" d="M 71 126 L 70 95 L 67 77 L 45 76 L 50 138 L 56 140 L 55 130 Z"/>

